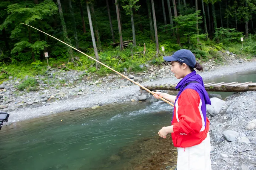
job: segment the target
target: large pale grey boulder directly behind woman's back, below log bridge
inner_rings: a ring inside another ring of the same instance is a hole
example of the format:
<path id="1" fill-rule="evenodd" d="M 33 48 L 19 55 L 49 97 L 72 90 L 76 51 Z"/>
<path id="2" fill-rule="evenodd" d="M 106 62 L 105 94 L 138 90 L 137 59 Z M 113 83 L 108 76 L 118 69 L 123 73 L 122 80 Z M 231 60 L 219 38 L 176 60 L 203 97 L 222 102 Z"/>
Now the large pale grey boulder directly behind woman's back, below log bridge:
<path id="1" fill-rule="evenodd" d="M 216 116 L 217 114 L 219 114 L 222 106 L 224 106 L 226 102 L 217 97 L 213 97 L 210 100 L 211 105 L 206 105 L 207 112 L 212 116 Z"/>

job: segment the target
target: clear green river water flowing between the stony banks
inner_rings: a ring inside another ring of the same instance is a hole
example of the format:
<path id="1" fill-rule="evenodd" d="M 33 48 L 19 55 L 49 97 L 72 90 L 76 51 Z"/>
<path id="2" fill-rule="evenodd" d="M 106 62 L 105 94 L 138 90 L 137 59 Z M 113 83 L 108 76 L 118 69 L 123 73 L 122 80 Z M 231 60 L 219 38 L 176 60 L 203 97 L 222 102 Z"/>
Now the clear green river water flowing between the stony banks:
<path id="1" fill-rule="evenodd" d="M 213 81 L 256 82 L 256 71 L 207 82 Z M 232 93 L 219 94 L 225 98 Z M 109 157 L 122 147 L 129 148 L 143 138 L 157 135 L 162 126 L 170 125 L 172 109 L 162 101 L 151 104 L 129 102 L 3 126 L 0 131 L 0 169 L 121 169 L 105 166 Z"/>

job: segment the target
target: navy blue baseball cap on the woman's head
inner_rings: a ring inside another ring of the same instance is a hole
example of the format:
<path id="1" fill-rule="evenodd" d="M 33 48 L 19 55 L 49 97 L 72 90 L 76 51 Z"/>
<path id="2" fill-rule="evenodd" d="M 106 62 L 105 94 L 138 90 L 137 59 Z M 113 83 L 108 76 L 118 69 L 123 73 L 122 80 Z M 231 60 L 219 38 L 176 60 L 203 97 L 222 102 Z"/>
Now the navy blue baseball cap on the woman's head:
<path id="1" fill-rule="evenodd" d="M 181 49 L 173 53 L 172 56 L 163 57 L 165 61 L 179 61 L 187 64 L 188 66 L 194 68 L 196 65 L 196 57 L 190 50 Z"/>

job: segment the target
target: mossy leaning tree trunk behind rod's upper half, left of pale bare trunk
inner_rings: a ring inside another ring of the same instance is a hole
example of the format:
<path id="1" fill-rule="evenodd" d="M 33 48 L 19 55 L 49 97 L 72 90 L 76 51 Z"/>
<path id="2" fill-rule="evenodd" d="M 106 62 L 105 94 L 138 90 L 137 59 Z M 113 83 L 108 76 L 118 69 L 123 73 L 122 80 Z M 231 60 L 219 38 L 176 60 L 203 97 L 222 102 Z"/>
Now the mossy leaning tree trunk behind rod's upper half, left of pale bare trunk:
<path id="1" fill-rule="evenodd" d="M 59 13 L 60 13 L 60 21 L 61 21 L 62 29 L 63 29 L 64 41 L 65 41 L 65 43 L 71 45 L 71 41 L 68 38 L 68 32 L 67 32 L 67 29 L 66 29 L 66 23 L 64 21 L 60 0 L 57 0 L 57 2 L 58 2 Z M 69 58 L 68 58 L 68 62 L 69 62 L 70 59 L 73 57 L 73 51 L 70 47 L 68 47 L 68 49 L 69 49 Z"/>

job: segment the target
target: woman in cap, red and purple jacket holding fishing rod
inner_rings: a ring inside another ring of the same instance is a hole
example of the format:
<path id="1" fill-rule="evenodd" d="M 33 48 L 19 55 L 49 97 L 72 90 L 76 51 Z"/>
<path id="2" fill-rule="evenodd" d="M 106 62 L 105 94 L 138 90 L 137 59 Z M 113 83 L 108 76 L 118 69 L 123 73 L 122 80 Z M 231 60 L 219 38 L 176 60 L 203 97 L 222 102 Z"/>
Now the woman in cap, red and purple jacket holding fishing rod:
<path id="1" fill-rule="evenodd" d="M 177 147 L 177 170 L 211 170 L 210 121 L 206 117 L 206 104 L 211 101 L 204 88 L 204 82 L 194 68 L 203 70 L 190 50 L 181 49 L 172 56 L 163 57 L 171 62 L 171 71 L 177 79 L 182 78 L 176 89 L 177 96 L 154 92 L 154 97 L 163 97 L 174 103 L 171 126 L 162 127 L 159 136 L 166 138 L 171 133 Z"/>

